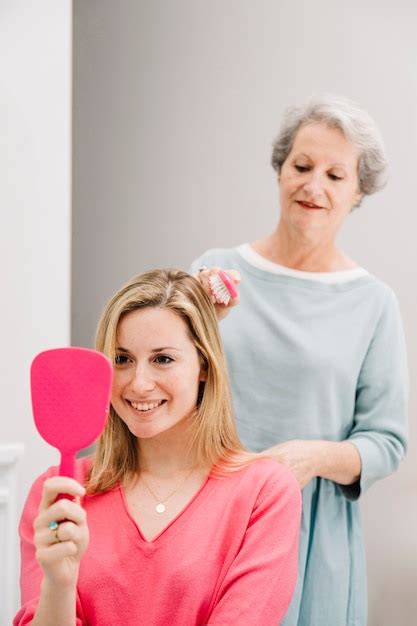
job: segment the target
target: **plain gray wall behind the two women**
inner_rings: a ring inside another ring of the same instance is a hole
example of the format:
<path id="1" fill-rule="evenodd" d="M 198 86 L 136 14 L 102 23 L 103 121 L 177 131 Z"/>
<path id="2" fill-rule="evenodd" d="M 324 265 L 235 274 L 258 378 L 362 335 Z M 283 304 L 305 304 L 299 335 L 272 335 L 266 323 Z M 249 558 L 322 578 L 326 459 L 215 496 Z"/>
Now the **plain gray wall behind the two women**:
<path id="1" fill-rule="evenodd" d="M 73 342 L 90 344 L 134 273 L 271 231 L 281 114 L 328 91 L 360 102 L 386 140 L 389 185 L 340 243 L 395 289 L 415 386 L 416 25 L 404 0 L 75 0 Z M 409 456 L 362 504 L 369 626 L 417 619 L 415 410 L 413 389 Z"/>

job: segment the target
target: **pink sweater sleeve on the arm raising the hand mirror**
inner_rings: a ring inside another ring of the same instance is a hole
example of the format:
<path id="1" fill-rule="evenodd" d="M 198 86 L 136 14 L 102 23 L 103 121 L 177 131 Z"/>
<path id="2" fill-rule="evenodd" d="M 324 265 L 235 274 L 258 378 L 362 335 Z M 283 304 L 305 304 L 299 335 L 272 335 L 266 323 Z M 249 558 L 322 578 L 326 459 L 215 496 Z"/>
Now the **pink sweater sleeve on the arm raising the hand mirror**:
<path id="1" fill-rule="evenodd" d="M 42 486 L 46 478 L 54 476 L 57 468 L 50 468 L 39 476 L 32 485 L 23 508 L 19 524 L 20 536 L 20 594 L 21 608 L 17 612 L 13 626 L 26 626 L 31 624 L 39 602 L 40 587 L 43 579 L 42 569 L 36 560 L 36 549 L 33 543 L 33 521 L 38 514 L 42 495 Z M 82 607 L 77 594 L 77 620 L 76 626 L 85 626 Z"/>

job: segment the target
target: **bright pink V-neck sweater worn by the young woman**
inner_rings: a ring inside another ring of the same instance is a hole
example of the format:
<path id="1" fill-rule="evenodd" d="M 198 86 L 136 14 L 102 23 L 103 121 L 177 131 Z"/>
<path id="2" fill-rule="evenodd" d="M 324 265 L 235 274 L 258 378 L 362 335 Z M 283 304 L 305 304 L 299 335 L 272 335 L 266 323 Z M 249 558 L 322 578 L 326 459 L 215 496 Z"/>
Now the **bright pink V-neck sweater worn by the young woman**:
<path id="1" fill-rule="evenodd" d="M 77 461 L 80 482 L 89 460 Z M 30 624 L 42 571 L 32 523 L 43 481 L 20 522 L 22 608 Z M 90 544 L 77 586 L 77 626 L 277 626 L 297 577 L 301 495 L 294 476 L 262 459 L 226 478 L 209 477 L 151 542 L 130 516 L 123 489 L 85 497 Z"/>

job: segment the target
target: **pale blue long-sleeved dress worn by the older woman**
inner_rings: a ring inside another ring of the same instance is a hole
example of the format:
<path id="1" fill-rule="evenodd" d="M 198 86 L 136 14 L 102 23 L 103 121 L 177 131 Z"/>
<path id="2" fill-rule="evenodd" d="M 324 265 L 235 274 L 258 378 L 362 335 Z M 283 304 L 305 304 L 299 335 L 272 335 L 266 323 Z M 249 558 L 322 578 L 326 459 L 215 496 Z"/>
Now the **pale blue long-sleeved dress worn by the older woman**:
<path id="1" fill-rule="evenodd" d="M 250 250 L 209 250 L 191 268 L 242 276 L 241 302 L 220 323 L 242 441 L 260 451 L 291 439 L 347 439 L 362 461 L 357 484 L 316 478 L 303 491 L 299 581 L 283 624 L 362 626 L 366 574 L 354 501 L 397 468 L 407 439 L 397 300 L 364 270 L 285 272 Z"/>

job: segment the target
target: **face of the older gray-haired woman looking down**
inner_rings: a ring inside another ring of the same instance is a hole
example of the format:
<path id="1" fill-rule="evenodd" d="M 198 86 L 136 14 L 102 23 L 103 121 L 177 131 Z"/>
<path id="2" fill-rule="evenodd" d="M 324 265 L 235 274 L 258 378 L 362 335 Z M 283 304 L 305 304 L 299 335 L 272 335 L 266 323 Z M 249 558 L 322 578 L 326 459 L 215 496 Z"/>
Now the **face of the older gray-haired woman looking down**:
<path id="1" fill-rule="evenodd" d="M 302 126 L 281 168 L 281 219 L 306 234 L 335 236 L 361 198 L 358 157 L 339 129 Z"/>

